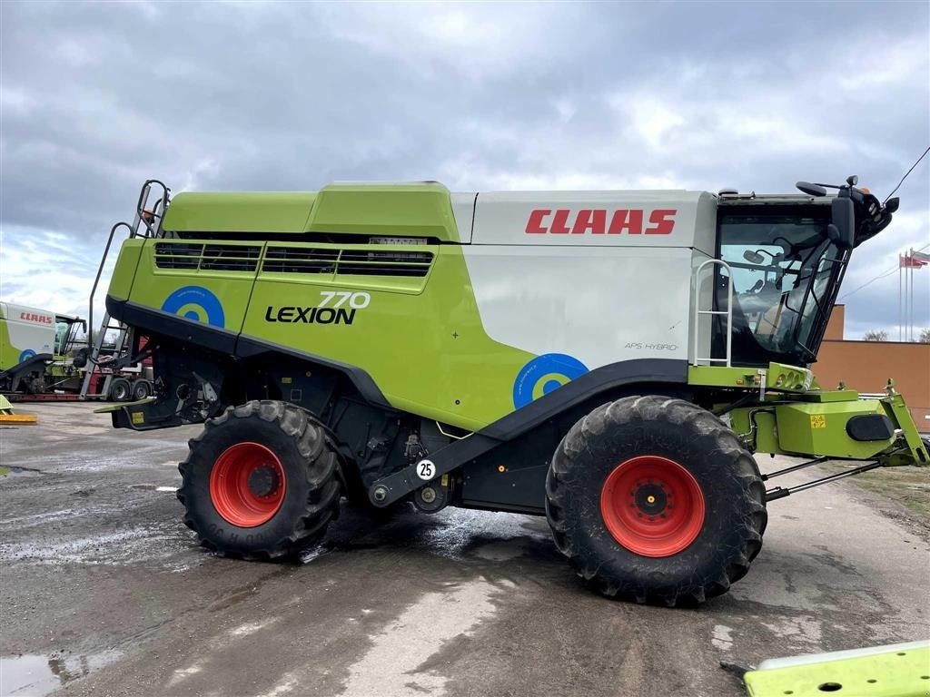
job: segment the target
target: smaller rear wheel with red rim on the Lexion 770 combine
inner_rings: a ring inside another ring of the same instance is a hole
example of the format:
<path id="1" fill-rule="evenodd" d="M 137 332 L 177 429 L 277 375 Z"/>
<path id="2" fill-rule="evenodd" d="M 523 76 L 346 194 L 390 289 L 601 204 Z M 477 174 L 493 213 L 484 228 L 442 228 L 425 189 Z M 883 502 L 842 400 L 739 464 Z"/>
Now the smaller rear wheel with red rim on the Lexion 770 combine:
<path id="1" fill-rule="evenodd" d="M 249 401 L 206 422 L 179 465 L 184 522 L 244 559 L 291 556 L 339 515 L 339 455 L 326 429 L 283 401 Z"/>

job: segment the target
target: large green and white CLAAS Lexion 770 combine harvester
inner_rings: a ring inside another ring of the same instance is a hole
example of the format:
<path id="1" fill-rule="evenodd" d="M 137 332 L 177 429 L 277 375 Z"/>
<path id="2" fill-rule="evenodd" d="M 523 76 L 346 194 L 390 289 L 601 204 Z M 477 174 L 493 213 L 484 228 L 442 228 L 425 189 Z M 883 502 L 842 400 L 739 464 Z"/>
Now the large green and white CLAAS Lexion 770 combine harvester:
<path id="1" fill-rule="evenodd" d="M 155 395 L 107 409 L 115 427 L 205 424 L 178 496 L 224 554 L 315 544 L 343 496 L 515 511 L 545 515 L 604 594 L 695 604 L 749 570 L 769 501 L 928 459 L 891 383 L 862 399 L 809 368 L 897 199 L 799 188 L 168 204 L 150 180 L 105 322 L 131 332 L 122 360 L 152 357 Z M 864 464 L 766 490 L 783 472 L 756 453 Z"/>

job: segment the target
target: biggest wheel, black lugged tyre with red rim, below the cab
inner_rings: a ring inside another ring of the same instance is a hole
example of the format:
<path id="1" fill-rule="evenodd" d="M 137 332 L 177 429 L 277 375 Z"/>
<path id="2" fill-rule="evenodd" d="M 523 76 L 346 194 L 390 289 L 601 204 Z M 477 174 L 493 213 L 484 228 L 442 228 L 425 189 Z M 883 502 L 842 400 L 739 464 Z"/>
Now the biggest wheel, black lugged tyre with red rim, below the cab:
<path id="1" fill-rule="evenodd" d="M 694 606 L 749 571 L 767 514 L 759 469 L 710 412 L 667 397 L 604 404 L 546 479 L 559 550 L 604 595 Z"/>

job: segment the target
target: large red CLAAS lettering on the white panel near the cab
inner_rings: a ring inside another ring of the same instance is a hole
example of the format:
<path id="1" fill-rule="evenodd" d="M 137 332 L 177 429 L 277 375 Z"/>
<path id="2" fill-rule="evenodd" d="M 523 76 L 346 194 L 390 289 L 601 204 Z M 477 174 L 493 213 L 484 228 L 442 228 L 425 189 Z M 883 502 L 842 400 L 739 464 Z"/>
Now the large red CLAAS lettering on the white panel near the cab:
<path id="1" fill-rule="evenodd" d="M 669 235 L 674 230 L 677 212 L 671 208 L 657 208 L 649 214 L 644 229 L 645 211 L 637 208 L 581 208 L 578 211 L 556 208 L 554 212 L 551 208 L 537 208 L 526 220 L 526 234 Z"/>

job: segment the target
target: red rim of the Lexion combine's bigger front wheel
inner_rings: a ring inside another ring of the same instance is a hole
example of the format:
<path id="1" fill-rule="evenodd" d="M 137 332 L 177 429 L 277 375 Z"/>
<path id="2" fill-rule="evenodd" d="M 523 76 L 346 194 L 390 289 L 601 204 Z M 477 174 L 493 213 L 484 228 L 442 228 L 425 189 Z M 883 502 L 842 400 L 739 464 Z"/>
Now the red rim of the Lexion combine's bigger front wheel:
<path id="1" fill-rule="evenodd" d="M 604 481 L 601 516 L 617 542 L 643 557 L 671 557 L 704 526 L 704 494 L 692 474 L 673 460 L 639 455 Z"/>

